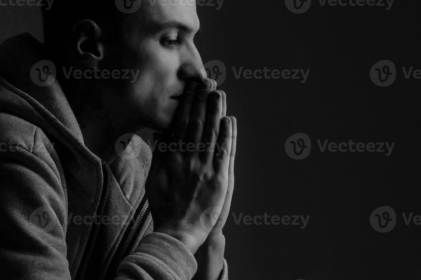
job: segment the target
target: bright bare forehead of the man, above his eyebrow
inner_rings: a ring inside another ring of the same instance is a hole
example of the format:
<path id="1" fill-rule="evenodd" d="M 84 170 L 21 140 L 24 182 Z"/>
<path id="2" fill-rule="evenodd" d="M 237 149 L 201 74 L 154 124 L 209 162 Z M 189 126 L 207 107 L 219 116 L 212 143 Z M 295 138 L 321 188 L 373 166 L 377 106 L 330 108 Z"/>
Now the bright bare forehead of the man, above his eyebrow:
<path id="1" fill-rule="evenodd" d="M 143 0 L 143 21 L 147 23 L 180 23 L 190 29 L 199 28 L 196 0 Z"/>

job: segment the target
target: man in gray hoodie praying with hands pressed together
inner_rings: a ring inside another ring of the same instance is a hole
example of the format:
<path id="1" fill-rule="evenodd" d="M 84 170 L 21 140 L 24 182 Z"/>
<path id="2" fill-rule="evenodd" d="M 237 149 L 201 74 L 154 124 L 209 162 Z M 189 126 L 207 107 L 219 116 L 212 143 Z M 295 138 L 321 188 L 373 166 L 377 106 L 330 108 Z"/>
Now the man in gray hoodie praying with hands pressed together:
<path id="1" fill-rule="evenodd" d="M 2 279 L 228 279 L 237 128 L 196 7 L 105 2 L 54 3 L 45 46 L 0 47 Z"/>

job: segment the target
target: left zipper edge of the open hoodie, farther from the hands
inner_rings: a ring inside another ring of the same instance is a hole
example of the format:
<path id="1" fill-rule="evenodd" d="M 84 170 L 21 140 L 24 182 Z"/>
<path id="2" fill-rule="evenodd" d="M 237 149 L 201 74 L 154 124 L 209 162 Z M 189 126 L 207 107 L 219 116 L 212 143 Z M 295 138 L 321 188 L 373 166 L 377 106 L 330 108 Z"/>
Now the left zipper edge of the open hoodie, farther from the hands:
<path id="1" fill-rule="evenodd" d="M 100 220 L 102 219 L 102 215 L 104 215 L 104 210 L 105 210 L 105 204 L 107 203 L 108 200 L 108 194 L 109 194 L 109 189 L 110 189 L 110 181 L 111 181 L 111 172 L 109 170 L 108 165 L 105 162 L 102 162 L 102 166 L 103 166 L 103 176 L 104 176 L 104 183 L 103 183 L 103 190 L 104 190 L 104 185 L 105 187 L 105 192 L 103 191 L 103 197 L 101 197 L 100 199 L 100 203 L 99 203 L 99 218 Z M 105 170 L 105 172 L 104 172 Z M 95 223 L 94 223 L 95 224 Z M 83 266 L 82 269 L 79 271 L 79 277 L 76 277 L 76 279 L 78 280 L 83 280 L 83 277 L 85 277 L 85 272 L 88 269 L 89 266 L 89 261 L 91 260 L 91 256 L 93 254 L 93 251 L 95 249 L 95 242 L 98 238 L 98 233 L 99 233 L 99 229 L 100 229 L 101 223 L 99 223 L 98 225 L 95 224 L 95 228 L 93 231 L 91 231 L 91 236 L 89 239 L 91 239 L 91 243 L 89 244 L 88 247 L 88 251 L 85 251 L 84 256 L 83 256 Z"/>

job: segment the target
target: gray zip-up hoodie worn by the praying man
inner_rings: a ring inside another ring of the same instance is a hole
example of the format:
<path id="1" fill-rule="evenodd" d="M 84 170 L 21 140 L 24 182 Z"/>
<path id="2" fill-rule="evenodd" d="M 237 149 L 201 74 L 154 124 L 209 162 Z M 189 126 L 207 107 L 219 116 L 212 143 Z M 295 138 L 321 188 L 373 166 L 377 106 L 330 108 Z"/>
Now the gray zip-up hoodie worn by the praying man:
<path id="1" fill-rule="evenodd" d="M 88 150 L 59 83 L 30 79 L 45 57 L 29 34 L 0 45 L 1 278 L 191 279 L 189 249 L 153 233 L 150 148 L 109 167 Z"/>

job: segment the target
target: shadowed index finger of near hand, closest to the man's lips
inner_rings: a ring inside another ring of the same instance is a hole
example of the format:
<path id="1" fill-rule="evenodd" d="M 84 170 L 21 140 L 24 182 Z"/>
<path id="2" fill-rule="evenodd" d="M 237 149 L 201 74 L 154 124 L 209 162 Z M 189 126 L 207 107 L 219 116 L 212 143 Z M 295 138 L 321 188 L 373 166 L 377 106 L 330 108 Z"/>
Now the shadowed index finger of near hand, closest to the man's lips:
<path id="1" fill-rule="evenodd" d="M 179 108 L 174 120 L 174 139 L 181 140 L 185 137 L 187 125 L 192 113 L 196 89 L 197 83 L 194 81 L 189 82 L 183 96 L 180 99 Z"/>

